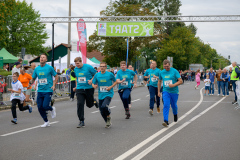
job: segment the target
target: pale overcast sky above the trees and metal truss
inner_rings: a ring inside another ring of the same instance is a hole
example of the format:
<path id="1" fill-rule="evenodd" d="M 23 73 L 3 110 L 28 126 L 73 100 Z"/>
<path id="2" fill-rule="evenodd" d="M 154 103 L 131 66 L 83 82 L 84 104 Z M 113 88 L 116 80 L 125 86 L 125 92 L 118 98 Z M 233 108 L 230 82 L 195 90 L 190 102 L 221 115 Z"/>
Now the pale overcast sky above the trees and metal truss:
<path id="1" fill-rule="evenodd" d="M 34 9 L 42 17 L 68 16 L 69 0 L 26 0 L 32 2 Z M 72 16 L 100 16 L 100 11 L 108 6 L 110 0 L 72 0 Z M 182 0 L 182 15 L 240 15 L 240 0 Z M 96 24 L 87 23 L 87 36 L 96 29 Z M 240 62 L 240 22 L 195 22 L 197 36 L 204 43 L 224 57 L 231 56 L 231 61 Z M 55 44 L 67 43 L 67 24 L 55 24 Z M 77 41 L 76 23 L 72 23 L 71 40 Z M 46 46 L 52 44 L 52 24 L 47 24 L 49 39 Z"/>

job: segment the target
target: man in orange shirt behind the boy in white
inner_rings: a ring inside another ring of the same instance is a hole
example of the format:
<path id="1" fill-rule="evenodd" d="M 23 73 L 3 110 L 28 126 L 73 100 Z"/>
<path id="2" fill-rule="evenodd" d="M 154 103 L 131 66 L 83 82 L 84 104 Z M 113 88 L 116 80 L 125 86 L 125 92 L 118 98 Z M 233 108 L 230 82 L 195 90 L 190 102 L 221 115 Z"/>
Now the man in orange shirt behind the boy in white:
<path id="1" fill-rule="evenodd" d="M 24 68 L 20 69 L 20 75 L 18 77 L 18 80 L 22 83 L 23 85 L 23 94 L 25 95 L 26 99 L 25 102 L 32 102 L 32 105 L 34 105 L 34 101 L 30 99 L 30 94 L 32 90 L 32 86 L 30 84 L 30 81 L 32 79 L 32 76 L 28 73 L 26 73 Z M 25 103 L 24 102 L 24 103 Z"/>

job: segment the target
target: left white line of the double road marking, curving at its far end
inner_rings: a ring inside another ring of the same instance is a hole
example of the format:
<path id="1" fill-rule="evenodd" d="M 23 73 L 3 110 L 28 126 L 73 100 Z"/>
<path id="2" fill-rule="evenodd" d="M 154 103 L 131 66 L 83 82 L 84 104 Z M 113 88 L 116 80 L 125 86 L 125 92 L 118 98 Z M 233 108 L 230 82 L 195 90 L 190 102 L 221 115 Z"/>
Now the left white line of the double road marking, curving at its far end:
<path id="1" fill-rule="evenodd" d="M 203 94 L 202 94 L 202 90 L 203 88 L 201 88 L 200 90 L 200 100 L 199 102 L 191 109 L 189 110 L 187 113 L 185 113 L 182 117 L 180 117 L 178 119 L 178 122 L 181 121 L 183 118 L 185 118 L 187 115 L 189 115 L 191 112 L 193 112 L 198 106 L 200 106 L 200 104 L 203 101 Z M 149 138 L 145 139 L 144 141 L 142 141 L 141 143 L 137 144 L 136 146 L 134 146 L 133 148 L 129 149 L 127 152 L 123 153 L 122 155 L 120 155 L 119 157 L 117 157 L 115 160 L 123 160 L 125 158 L 127 158 L 128 156 L 130 156 L 131 154 L 133 154 L 134 152 L 136 152 L 137 150 L 139 150 L 140 148 L 142 148 L 144 145 L 146 145 L 147 143 L 149 143 L 150 141 L 152 141 L 153 139 L 155 139 L 156 137 L 158 137 L 159 135 L 161 135 L 162 133 L 164 133 L 167 129 L 171 128 L 172 126 L 174 126 L 176 123 L 171 123 L 168 128 L 163 128 L 160 131 L 156 132 L 155 134 L 153 134 L 152 136 L 150 136 Z"/>

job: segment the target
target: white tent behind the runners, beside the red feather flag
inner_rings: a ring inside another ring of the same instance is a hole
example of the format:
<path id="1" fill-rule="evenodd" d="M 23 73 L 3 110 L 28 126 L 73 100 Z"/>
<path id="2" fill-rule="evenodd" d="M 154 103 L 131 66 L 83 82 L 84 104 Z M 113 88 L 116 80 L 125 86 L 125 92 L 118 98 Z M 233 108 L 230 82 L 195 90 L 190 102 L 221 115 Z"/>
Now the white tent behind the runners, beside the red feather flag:
<path id="1" fill-rule="evenodd" d="M 71 51 L 71 57 L 70 57 L 70 64 L 74 65 L 74 59 L 76 57 L 81 57 L 82 58 L 82 53 L 79 51 Z M 47 62 L 47 64 L 51 65 L 51 61 Z M 93 66 L 93 67 L 99 67 L 99 64 L 92 62 L 87 58 L 87 64 Z M 54 61 L 54 67 L 56 69 L 60 69 L 62 71 L 65 68 L 68 68 L 67 66 L 67 54 L 64 57 L 61 57 L 61 63 L 59 63 L 59 59 Z"/>

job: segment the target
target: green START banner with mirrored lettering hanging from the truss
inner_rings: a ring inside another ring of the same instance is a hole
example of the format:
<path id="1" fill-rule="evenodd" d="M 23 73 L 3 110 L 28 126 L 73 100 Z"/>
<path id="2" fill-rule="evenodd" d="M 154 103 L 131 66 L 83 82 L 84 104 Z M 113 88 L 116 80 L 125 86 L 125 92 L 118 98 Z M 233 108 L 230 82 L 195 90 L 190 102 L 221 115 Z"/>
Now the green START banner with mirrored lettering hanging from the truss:
<path id="1" fill-rule="evenodd" d="M 98 22 L 98 36 L 149 37 L 153 36 L 154 22 Z"/>

